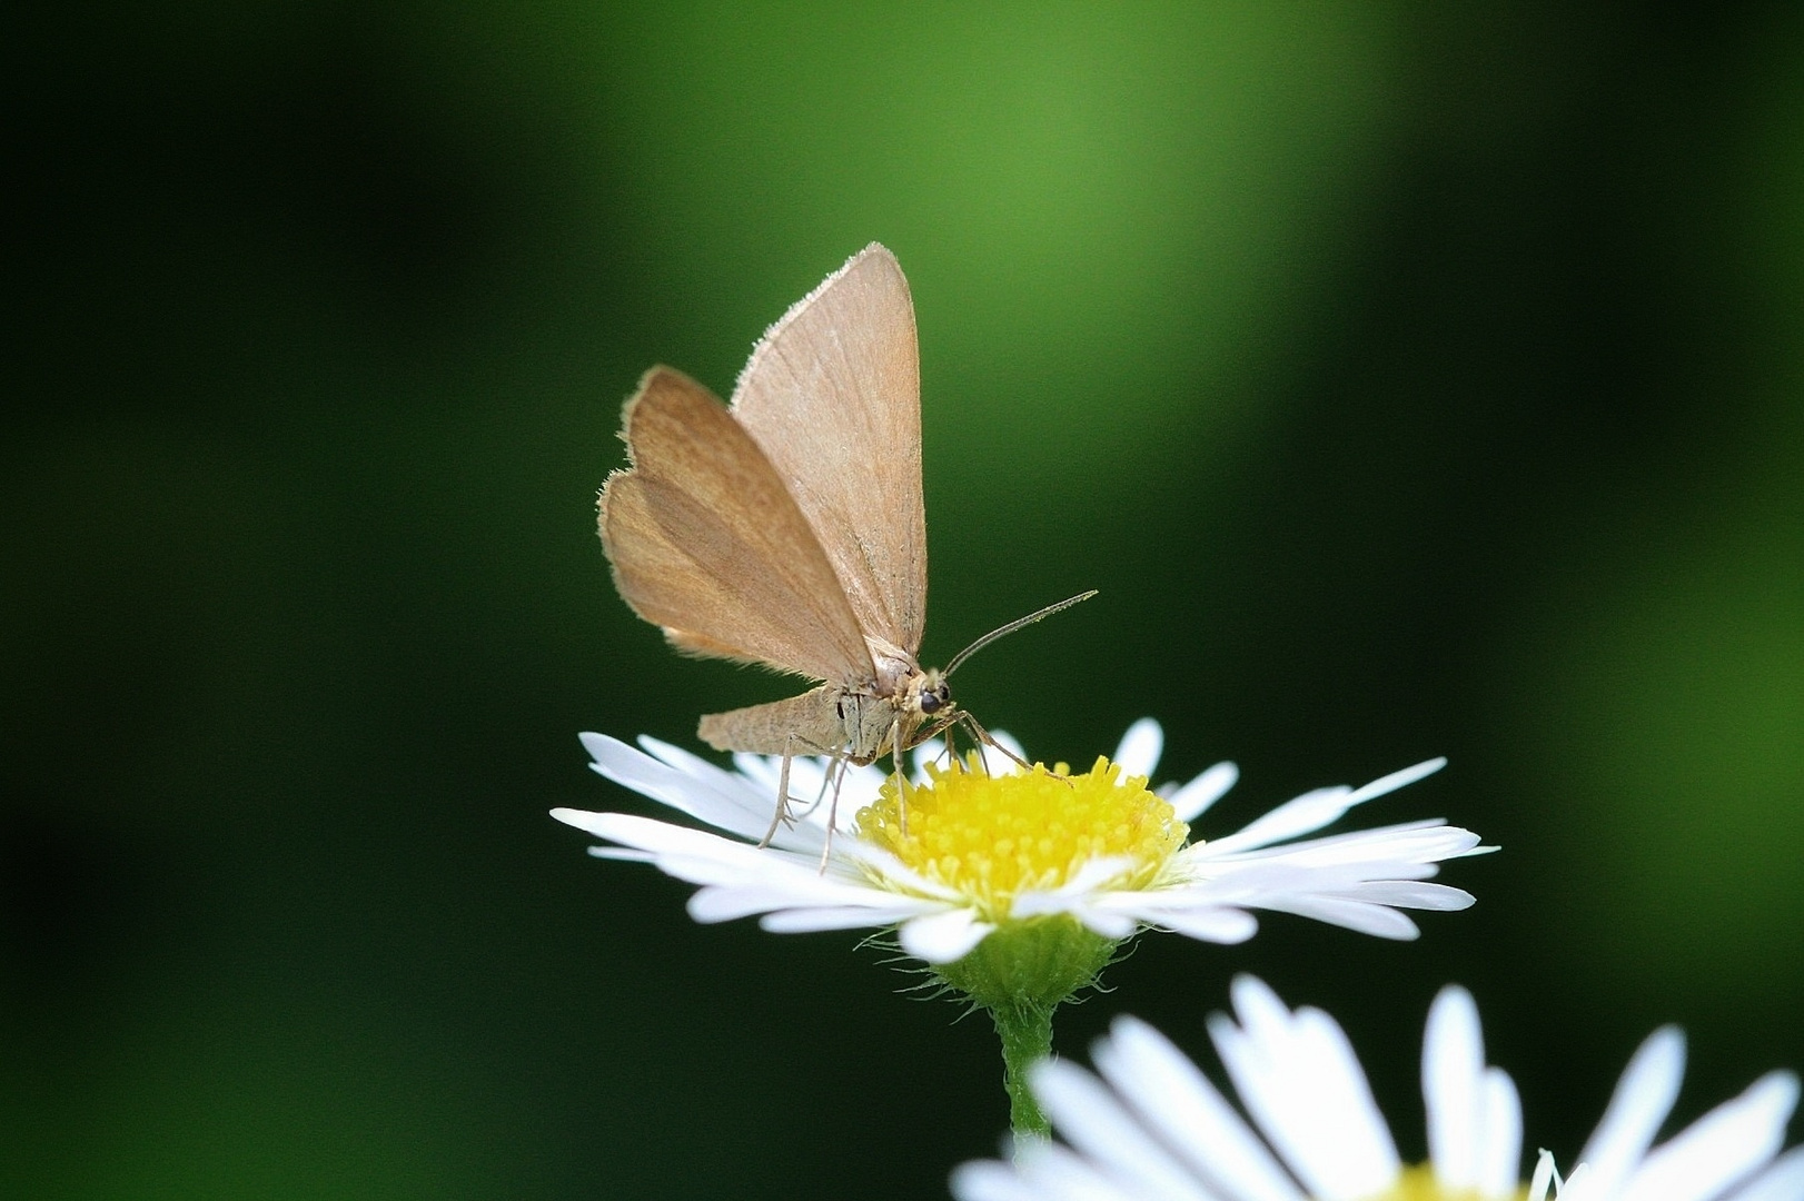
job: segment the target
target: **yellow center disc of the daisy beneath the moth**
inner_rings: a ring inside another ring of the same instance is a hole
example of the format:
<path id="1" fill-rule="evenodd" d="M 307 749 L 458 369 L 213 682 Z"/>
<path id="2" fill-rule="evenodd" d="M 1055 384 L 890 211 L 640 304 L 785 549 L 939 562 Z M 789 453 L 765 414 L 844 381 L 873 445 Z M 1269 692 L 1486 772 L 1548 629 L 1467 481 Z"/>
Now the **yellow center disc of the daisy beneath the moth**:
<path id="1" fill-rule="evenodd" d="M 1183 846 L 1191 828 L 1171 804 L 1144 775 L 1120 775 L 1104 756 L 1082 775 L 1063 763 L 990 775 L 976 756 L 929 765 L 925 784 L 889 777 L 859 810 L 859 837 L 1003 921 L 1021 893 L 1055 889 L 1099 858 L 1122 860 L 1109 887 L 1144 887 Z"/>

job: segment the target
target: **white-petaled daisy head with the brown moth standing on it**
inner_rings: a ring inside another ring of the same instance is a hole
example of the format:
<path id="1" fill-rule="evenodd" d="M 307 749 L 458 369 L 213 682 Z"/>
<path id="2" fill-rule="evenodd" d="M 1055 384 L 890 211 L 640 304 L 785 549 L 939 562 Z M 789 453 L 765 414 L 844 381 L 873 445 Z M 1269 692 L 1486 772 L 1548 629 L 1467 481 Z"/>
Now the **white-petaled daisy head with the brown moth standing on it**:
<path id="1" fill-rule="evenodd" d="M 1470 893 L 1429 876 L 1445 858 L 1492 848 L 1443 821 L 1304 837 L 1445 759 L 1362 788 L 1308 792 L 1205 840 L 1191 835 L 1189 822 L 1232 788 L 1238 772 L 1218 763 L 1187 784 L 1149 790 L 1162 741 L 1158 723 L 1138 721 L 1113 761 L 1099 757 L 1084 774 L 1063 765 L 1021 770 L 989 748 L 983 763 L 972 754 L 940 766 L 933 759 L 942 748 L 929 745 L 906 786 L 877 765 L 846 766 L 837 799 L 830 761 L 797 757 L 790 797 L 799 811 L 761 848 L 779 757 L 740 754 L 729 772 L 653 738 L 635 750 L 583 734 L 595 772 L 713 830 L 630 813 L 552 810 L 552 817 L 610 844 L 592 855 L 655 864 L 700 885 L 689 898 L 696 921 L 758 914 L 767 931 L 785 934 L 893 927 L 902 950 L 929 965 L 954 963 L 998 931 L 1055 916 L 1111 945 L 1142 927 L 1239 943 L 1257 929 L 1254 909 L 1407 940 L 1418 929 L 1404 909 L 1472 903 Z"/>

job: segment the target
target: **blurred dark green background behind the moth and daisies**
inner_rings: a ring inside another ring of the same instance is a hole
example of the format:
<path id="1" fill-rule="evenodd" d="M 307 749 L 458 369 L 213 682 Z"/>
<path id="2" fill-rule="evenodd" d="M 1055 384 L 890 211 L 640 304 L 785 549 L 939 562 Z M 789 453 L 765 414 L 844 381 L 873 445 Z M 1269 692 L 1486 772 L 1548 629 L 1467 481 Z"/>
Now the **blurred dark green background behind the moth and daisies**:
<path id="1" fill-rule="evenodd" d="M 1236 970 L 1407 1154 L 1458 979 L 1571 1156 L 1654 1024 L 1804 1066 L 1804 16 L 1788 5 L 22 5 L 4 38 L 0 1192 L 933 1197 L 994 1035 L 696 927 L 577 730 L 783 685 L 613 595 L 619 404 L 870 240 L 920 317 L 925 658 L 1046 757 L 1165 723 L 1225 833 L 1503 844 Z"/>

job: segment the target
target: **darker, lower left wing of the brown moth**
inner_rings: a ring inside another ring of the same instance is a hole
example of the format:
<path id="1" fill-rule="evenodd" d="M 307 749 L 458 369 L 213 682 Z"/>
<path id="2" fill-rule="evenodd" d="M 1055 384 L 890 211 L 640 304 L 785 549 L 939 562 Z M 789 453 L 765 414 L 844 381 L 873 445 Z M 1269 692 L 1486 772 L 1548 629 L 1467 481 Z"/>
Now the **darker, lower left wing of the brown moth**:
<path id="1" fill-rule="evenodd" d="M 601 490 L 601 541 L 633 611 L 678 647 L 815 680 L 871 678 L 871 653 L 806 518 L 702 384 L 653 368 L 626 402 L 631 467 Z"/>

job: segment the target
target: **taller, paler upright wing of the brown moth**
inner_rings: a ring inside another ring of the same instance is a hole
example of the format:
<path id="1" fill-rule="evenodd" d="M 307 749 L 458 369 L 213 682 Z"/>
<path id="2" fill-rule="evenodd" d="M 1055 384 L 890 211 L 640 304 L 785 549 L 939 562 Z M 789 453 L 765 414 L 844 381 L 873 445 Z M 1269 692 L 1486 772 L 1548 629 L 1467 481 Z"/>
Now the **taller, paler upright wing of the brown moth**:
<path id="1" fill-rule="evenodd" d="M 920 352 L 895 254 L 873 242 L 783 314 L 732 413 L 814 528 L 859 628 L 915 655 L 927 619 Z"/>

